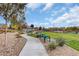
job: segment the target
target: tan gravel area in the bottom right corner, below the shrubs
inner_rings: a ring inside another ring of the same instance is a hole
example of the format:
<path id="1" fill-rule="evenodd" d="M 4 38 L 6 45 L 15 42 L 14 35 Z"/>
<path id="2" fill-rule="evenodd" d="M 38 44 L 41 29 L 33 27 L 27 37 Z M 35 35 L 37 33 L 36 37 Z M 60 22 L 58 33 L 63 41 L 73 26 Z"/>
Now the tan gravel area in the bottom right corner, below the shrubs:
<path id="1" fill-rule="evenodd" d="M 79 56 L 79 51 L 64 45 L 63 47 L 57 47 L 51 52 L 48 51 L 48 54 L 50 56 Z"/>

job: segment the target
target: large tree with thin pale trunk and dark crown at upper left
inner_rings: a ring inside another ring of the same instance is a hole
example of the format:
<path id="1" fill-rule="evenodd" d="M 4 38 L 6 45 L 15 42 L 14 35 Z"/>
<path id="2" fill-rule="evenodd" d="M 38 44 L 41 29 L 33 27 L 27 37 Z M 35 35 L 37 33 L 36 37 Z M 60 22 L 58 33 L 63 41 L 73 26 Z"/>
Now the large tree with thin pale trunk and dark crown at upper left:
<path id="1" fill-rule="evenodd" d="M 0 4 L 0 16 L 3 16 L 6 20 L 6 25 L 9 20 L 13 16 L 18 16 L 18 14 L 22 14 L 24 11 L 25 4 L 17 4 L 17 3 L 5 3 Z M 5 39 L 7 40 L 7 27 L 5 29 Z M 7 45 L 7 44 L 6 44 Z"/>

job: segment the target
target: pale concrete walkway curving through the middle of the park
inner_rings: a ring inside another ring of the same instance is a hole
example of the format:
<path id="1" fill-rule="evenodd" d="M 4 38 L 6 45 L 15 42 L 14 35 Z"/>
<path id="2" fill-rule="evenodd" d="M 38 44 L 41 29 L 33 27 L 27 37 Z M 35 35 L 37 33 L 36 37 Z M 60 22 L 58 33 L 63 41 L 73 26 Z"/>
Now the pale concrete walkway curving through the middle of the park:
<path id="1" fill-rule="evenodd" d="M 27 39 L 27 42 L 19 56 L 48 56 L 40 40 L 26 34 L 22 36 Z"/>

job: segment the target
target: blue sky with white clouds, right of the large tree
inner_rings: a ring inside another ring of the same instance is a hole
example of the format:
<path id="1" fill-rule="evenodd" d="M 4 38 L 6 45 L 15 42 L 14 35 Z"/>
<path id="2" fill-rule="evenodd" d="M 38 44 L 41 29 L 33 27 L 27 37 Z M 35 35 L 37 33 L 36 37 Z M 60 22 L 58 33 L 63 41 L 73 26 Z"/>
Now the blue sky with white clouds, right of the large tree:
<path id="1" fill-rule="evenodd" d="M 79 26 L 78 3 L 29 3 L 27 23 L 42 27 Z"/>

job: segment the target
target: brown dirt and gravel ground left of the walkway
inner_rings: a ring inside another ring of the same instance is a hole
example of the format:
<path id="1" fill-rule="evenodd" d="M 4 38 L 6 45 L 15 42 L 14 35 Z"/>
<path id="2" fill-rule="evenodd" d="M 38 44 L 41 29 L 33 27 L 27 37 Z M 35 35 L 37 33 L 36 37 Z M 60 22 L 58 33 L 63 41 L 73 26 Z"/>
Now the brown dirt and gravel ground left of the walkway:
<path id="1" fill-rule="evenodd" d="M 0 56 L 17 56 L 24 47 L 26 39 L 23 37 L 16 38 L 17 33 L 0 34 Z"/>

